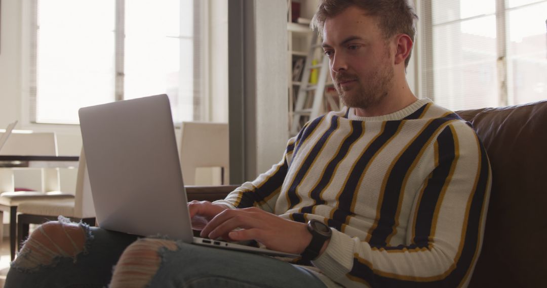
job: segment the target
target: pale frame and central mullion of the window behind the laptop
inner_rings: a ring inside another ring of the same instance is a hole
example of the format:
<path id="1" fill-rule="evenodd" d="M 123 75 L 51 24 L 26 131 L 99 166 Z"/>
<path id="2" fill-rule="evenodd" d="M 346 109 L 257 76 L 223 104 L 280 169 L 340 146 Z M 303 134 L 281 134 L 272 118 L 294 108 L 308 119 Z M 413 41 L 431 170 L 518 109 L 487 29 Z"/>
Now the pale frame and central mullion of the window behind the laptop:
<path id="1" fill-rule="evenodd" d="M 114 101 L 124 100 L 124 49 L 125 49 L 125 1 L 115 0 L 115 89 Z M 195 59 L 202 61 L 194 61 L 194 101 L 198 101 L 200 105 L 194 104 L 194 113 L 192 121 L 207 121 L 209 117 L 208 111 L 208 47 L 207 39 L 209 38 L 208 31 L 208 1 L 190 0 L 193 1 L 194 7 L 194 31 L 193 39 Z M 79 133 L 79 124 L 73 123 L 43 123 L 37 122 L 37 34 L 38 34 L 38 2 L 37 0 L 22 1 L 22 37 L 21 37 L 21 126 L 25 129 L 32 130 L 56 130 L 60 133 Z M 198 36 L 199 35 L 199 36 Z M 189 37 L 177 37 L 179 39 L 188 39 Z M 204 51 L 203 47 L 207 47 Z M 197 76 L 196 76 L 197 75 Z M 195 102 L 194 102 L 195 103 Z M 175 127 L 180 128 L 180 122 L 175 122 Z"/>

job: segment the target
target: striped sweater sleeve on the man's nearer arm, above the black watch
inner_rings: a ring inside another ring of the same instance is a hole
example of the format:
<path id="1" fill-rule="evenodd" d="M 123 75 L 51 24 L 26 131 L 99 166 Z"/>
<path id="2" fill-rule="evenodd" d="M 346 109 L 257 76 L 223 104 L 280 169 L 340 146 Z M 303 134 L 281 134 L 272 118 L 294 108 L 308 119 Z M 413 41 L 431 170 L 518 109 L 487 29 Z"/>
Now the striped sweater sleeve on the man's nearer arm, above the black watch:
<path id="1" fill-rule="evenodd" d="M 411 209 L 405 244 L 373 245 L 333 231 L 313 265 L 347 287 L 467 286 L 480 253 L 491 171 L 463 121 L 433 144 L 435 166 Z"/>

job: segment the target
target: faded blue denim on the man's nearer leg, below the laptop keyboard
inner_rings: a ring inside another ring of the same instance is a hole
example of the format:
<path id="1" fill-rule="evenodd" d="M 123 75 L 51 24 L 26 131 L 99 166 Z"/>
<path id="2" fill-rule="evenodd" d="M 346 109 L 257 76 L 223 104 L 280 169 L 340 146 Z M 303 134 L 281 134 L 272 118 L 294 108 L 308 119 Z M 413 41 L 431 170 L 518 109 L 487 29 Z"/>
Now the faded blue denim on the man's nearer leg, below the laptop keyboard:
<path id="1" fill-rule="evenodd" d="M 178 247 L 162 251 L 149 287 L 325 287 L 306 269 L 272 257 L 186 243 Z"/>

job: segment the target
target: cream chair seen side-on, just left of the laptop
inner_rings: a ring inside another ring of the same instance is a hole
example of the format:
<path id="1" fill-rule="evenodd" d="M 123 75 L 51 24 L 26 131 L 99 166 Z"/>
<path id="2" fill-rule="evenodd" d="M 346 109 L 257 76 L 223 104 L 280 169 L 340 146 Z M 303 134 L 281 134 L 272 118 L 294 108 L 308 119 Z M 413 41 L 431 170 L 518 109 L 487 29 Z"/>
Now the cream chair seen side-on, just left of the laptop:
<path id="1" fill-rule="evenodd" d="M 57 220 L 59 215 L 71 218 L 72 221 L 82 220 L 91 226 L 95 225 L 95 206 L 83 149 L 79 158 L 74 199 L 26 201 L 19 205 L 18 212 L 18 245 L 28 236 L 30 224 Z"/>

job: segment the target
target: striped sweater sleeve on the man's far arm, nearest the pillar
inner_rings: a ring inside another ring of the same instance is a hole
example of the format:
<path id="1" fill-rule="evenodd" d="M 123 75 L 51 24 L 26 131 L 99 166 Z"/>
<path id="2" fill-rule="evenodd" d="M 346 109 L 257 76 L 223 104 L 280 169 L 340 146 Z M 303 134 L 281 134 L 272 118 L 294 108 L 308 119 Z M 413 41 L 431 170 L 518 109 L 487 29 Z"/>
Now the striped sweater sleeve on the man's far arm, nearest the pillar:
<path id="1" fill-rule="evenodd" d="M 283 158 L 270 170 L 259 175 L 254 181 L 243 183 L 241 187 L 228 194 L 224 200 L 214 201 L 213 203 L 223 204 L 232 209 L 258 207 L 264 211 L 274 213 L 275 202 L 287 175 L 295 143 L 300 140 L 300 136 L 301 134 L 289 139 Z"/>

